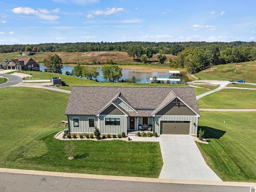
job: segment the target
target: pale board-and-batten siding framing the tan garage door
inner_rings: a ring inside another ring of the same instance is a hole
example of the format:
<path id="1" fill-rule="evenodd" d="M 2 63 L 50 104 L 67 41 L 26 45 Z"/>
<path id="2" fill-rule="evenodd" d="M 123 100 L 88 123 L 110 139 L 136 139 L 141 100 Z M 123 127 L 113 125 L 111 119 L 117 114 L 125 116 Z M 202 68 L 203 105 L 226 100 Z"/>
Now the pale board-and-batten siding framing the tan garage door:
<path id="1" fill-rule="evenodd" d="M 160 134 L 161 121 L 190 121 L 190 135 L 197 135 L 197 116 L 155 116 L 155 132 Z"/>

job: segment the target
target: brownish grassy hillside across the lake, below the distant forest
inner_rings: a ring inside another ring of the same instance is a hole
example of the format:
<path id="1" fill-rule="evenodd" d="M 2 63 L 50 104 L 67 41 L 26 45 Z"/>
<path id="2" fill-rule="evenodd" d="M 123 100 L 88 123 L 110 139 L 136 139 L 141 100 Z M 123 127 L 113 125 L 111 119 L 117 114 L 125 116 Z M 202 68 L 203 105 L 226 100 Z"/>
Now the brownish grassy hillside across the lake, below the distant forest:
<path id="1" fill-rule="evenodd" d="M 44 58 L 48 55 L 58 54 L 62 61 L 65 63 L 74 63 L 74 62 L 88 62 L 91 63 L 93 60 L 101 63 L 106 63 L 110 58 L 117 62 L 118 64 L 142 64 L 141 62 L 134 62 L 132 57 L 129 57 L 126 52 L 116 52 L 116 51 L 97 51 L 97 52 L 74 52 L 74 53 L 67 53 L 67 52 L 43 52 L 43 53 L 36 53 L 32 57 L 36 62 L 42 62 Z M 2 53 L 0 54 L 0 61 L 3 61 L 4 58 L 8 60 L 13 59 L 15 57 L 24 57 L 18 55 L 18 53 Z M 176 56 L 171 54 L 166 54 L 167 61 L 169 63 L 169 59 L 176 60 Z M 154 55 L 153 58 L 150 59 L 153 63 L 158 63 L 157 55 Z"/>

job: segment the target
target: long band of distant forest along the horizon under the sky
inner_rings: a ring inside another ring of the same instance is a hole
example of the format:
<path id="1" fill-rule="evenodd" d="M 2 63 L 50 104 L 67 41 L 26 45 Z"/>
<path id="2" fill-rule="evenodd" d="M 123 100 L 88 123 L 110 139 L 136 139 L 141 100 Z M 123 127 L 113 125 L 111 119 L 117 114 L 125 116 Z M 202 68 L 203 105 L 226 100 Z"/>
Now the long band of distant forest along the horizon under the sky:
<path id="1" fill-rule="evenodd" d="M 0 45 L 0 53 L 25 51 L 30 46 L 35 52 L 88 52 L 88 51 L 121 51 L 127 52 L 131 46 L 151 47 L 154 54 L 173 54 L 187 47 L 206 49 L 210 45 L 218 46 L 219 50 L 234 47 L 253 47 L 256 42 L 77 42 L 77 43 L 45 43 L 45 44 L 14 44 Z"/>

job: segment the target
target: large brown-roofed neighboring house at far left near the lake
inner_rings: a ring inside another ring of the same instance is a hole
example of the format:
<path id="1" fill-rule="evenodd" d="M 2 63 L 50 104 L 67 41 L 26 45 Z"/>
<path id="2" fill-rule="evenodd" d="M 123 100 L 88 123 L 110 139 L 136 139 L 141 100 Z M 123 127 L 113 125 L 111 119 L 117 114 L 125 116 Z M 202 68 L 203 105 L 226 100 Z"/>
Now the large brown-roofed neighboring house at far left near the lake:
<path id="1" fill-rule="evenodd" d="M 0 63 L 0 68 L 13 70 L 39 71 L 39 64 L 32 58 L 14 58 L 9 61 L 6 59 Z"/>

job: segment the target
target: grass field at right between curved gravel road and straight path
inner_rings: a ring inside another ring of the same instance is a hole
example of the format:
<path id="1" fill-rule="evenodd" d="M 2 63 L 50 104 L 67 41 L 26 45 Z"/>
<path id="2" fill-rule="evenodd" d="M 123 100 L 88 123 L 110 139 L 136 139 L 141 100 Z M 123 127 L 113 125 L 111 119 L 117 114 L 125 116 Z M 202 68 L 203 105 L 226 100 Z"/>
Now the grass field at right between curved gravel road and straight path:
<path id="1" fill-rule="evenodd" d="M 256 90 L 224 89 L 200 98 L 199 108 L 256 109 Z"/>

